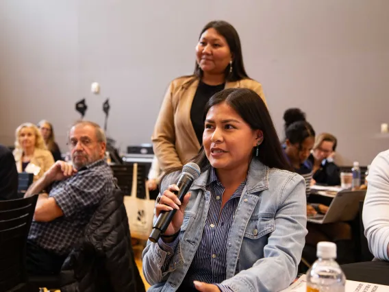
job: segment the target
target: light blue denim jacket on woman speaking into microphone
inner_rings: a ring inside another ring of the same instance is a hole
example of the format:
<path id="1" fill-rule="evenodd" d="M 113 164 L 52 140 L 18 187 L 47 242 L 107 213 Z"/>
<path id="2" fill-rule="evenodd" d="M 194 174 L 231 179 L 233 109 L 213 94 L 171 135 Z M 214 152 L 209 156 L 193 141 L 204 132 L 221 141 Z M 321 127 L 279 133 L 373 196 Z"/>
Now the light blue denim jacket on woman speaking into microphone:
<path id="1" fill-rule="evenodd" d="M 177 182 L 179 172 L 162 182 L 161 193 Z M 166 258 L 158 243 L 147 243 L 142 254 L 143 273 L 149 291 L 176 291 L 184 280 L 203 234 L 210 206 L 205 190 L 209 171 L 201 173 L 190 188 L 179 244 L 166 271 Z M 226 280 L 233 291 L 281 291 L 297 276 L 297 266 L 305 244 L 306 199 L 301 175 L 269 169 L 251 160 L 247 184 L 228 236 Z"/>

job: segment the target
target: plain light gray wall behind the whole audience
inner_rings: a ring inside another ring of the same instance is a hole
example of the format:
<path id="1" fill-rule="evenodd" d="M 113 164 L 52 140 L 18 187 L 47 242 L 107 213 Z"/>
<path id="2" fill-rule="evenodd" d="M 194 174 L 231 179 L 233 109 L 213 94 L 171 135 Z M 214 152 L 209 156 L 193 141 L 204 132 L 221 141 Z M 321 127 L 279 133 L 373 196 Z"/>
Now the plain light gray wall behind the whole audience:
<path id="1" fill-rule="evenodd" d="M 84 97 L 101 125 L 110 97 L 108 134 L 122 149 L 148 143 L 168 82 L 193 69 L 201 28 L 225 19 L 277 130 L 300 107 L 316 132 L 338 136 L 343 163 L 366 165 L 389 148 L 376 136 L 389 122 L 388 11 L 387 0 L 1 0 L 0 143 L 48 119 L 65 150 Z"/>

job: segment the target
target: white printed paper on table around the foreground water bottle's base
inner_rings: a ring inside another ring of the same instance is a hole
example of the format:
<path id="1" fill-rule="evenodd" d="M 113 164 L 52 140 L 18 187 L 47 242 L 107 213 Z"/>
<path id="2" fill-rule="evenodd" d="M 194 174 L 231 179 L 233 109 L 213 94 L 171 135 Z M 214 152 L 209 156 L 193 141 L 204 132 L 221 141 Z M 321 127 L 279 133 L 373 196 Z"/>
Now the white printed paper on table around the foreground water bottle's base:
<path id="1" fill-rule="evenodd" d="M 307 280 L 306 276 L 303 275 L 294 282 L 290 287 L 281 292 L 306 292 L 307 291 Z M 346 281 L 345 292 L 389 292 L 389 286 L 371 284 L 356 281 Z"/>

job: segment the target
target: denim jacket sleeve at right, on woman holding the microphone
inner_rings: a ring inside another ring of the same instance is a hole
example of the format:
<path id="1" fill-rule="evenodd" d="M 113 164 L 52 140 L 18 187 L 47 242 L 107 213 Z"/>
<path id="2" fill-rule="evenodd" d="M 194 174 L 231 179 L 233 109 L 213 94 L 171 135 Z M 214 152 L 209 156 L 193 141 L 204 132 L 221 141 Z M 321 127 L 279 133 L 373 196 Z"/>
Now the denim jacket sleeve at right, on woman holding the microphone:
<path id="1" fill-rule="evenodd" d="M 297 276 L 308 233 L 305 181 L 294 174 L 290 180 L 284 180 L 282 189 L 275 230 L 264 247 L 264 258 L 221 283 L 233 291 L 282 291 Z"/>

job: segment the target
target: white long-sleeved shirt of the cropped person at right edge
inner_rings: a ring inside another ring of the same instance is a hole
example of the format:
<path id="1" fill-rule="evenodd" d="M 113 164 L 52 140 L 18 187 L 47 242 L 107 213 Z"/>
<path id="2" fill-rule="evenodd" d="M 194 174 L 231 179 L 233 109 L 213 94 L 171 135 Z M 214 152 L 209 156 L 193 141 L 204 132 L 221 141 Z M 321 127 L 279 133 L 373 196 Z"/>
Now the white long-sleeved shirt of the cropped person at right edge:
<path id="1" fill-rule="evenodd" d="M 364 234 L 372 254 L 389 260 L 389 150 L 381 152 L 371 163 L 362 219 Z"/>

